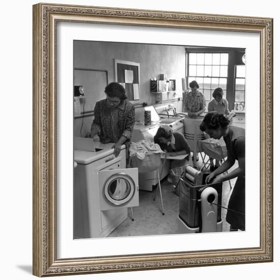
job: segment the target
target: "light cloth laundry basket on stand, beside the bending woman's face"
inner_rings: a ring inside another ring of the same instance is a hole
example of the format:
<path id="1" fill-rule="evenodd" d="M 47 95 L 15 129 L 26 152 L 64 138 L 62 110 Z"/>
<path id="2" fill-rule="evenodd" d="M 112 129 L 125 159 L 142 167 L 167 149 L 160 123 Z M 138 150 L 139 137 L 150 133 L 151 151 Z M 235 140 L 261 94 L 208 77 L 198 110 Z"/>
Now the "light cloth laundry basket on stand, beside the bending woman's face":
<path id="1" fill-rule="evenodd" d="M 227 147 L 221 146 L 220 143 L 208 138 L 203 141 L 198 141 L 198 150 L 204 152 L 213 159 L 224 159 L 227 157 Z"/>

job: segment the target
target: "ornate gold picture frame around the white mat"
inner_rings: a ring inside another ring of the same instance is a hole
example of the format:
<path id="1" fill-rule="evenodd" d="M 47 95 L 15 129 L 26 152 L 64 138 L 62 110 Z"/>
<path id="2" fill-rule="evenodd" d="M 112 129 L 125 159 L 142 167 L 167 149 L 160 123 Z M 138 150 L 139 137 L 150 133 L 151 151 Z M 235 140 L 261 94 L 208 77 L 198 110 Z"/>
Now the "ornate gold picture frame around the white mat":
<path id="1" fill-rule="evenodd" d="M 259 34 L 260 246 L 58 258 L 57 26 L 59 22 Z M 34 275 L 52 276 L 273 261 L 272 32 L 271 18 L 56 4 L 33 6 Z"/>

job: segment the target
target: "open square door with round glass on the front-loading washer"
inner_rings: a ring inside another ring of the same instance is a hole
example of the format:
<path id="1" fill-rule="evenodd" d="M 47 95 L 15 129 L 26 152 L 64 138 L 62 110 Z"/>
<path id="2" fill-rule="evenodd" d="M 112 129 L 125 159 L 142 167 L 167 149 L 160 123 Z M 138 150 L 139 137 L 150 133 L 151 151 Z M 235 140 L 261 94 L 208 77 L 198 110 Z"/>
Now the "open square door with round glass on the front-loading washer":
<path id="1" fill-rule="evenodd" d="M 103 199 L 110 205 L 125 206 L 138 191 L 137 168 L 99 171 L 98 177 Z"/>

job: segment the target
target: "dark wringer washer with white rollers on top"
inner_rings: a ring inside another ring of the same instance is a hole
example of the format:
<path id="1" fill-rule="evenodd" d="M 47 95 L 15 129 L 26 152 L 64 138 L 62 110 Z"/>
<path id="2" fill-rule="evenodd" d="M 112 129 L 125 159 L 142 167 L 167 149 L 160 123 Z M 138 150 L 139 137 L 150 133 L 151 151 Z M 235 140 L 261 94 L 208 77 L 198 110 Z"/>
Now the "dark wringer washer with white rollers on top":
<path id="1" fill-rule="evenodd" d="M 186 165 L 179 178 L 178 233 L 222 231 L 222 182 L 205 184 L 208 175 Z"/>

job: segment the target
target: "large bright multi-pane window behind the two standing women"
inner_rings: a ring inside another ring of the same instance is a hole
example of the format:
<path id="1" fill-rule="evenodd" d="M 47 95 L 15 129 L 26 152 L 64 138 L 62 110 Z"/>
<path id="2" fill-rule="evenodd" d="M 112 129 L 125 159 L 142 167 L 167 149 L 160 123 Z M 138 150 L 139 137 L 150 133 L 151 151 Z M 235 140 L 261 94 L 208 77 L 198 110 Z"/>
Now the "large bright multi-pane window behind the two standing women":
<path id="1" fill-rule="evenodd" d="M 226 98 L 229 54 L 188 52 L 187 58 L 187 86 L 196 80 L 206 101 L 212 99 L 216 88 L 222 88 Z"/>

